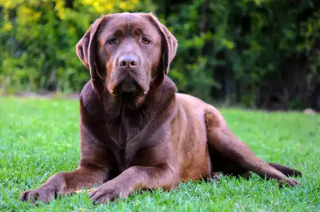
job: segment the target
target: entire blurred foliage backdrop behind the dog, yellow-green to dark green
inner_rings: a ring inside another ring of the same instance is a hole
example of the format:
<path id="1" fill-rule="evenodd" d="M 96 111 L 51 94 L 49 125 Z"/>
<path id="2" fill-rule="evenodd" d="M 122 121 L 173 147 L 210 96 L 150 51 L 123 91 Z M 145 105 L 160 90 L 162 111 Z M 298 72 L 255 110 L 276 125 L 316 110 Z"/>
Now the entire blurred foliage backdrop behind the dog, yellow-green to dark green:
<path id="1" fill-rule="evenodd" d="M 251 107 L 278 96 L 289 108 L 316 95 L 319 0 L 0 0 L 0 88 L 79 91 L 89 74 L 75 44 L 122 11 L 154 11 L 176 36 L 169 75 L 180 92 Z"/>

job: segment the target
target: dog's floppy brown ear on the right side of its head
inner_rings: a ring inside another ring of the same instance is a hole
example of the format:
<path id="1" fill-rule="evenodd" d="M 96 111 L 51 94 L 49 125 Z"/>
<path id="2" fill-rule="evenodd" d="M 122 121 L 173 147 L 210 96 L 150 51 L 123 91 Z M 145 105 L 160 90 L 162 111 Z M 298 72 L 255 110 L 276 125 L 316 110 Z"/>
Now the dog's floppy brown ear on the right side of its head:
<path id="1" fill-rule="evenodd" d="M 178 42 L 177 39 L 169 32 L 169 30 L 160 23 L 160 21 L 152 14 L 146 14 L 151 23 L 158 29 L 162 38 L 162 54 L 161 54 L 161 67 L 163 67 L 164 74 L 169 72 L 171 61 L 177 52 Z"/>

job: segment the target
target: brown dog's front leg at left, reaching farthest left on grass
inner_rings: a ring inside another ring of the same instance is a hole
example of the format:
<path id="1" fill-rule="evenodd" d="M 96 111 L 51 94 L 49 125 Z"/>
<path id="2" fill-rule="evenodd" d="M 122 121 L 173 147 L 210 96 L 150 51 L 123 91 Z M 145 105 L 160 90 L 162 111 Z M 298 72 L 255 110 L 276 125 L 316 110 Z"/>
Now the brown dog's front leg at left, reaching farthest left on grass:
<path id="1" fill-rule="evenodd" d="M 59 172 L 52 175 L 44 184 L 20 195 L 21 201 L 40 200 L 47 203 L 57 195 L 72 193 L 82 187 L 101 185 L 109 178 L 113 153 L 92 133 L 80 125 L 81 160 L 77 170 Z"/>

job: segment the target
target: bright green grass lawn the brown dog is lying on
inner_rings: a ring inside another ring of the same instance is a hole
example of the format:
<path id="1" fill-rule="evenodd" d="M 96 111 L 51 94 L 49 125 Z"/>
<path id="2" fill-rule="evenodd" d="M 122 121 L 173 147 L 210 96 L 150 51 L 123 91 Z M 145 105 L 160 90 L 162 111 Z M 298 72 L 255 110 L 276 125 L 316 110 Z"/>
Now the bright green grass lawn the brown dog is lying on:
<path id="1" fill-rule="evenodd" d="M 320 116 L 223 109 L 231 129 L 268 162 L 303 172 L 301 187 L 276 181 L 223 177 L 177 190 L 134 193 L 125 201 L 93 205 L 87 194 L 35 207 L 18 201 L 58 171 L 77 168 L 79 103 L 76 100 L 0 98 L 0 211 L 320 211 Z"/>

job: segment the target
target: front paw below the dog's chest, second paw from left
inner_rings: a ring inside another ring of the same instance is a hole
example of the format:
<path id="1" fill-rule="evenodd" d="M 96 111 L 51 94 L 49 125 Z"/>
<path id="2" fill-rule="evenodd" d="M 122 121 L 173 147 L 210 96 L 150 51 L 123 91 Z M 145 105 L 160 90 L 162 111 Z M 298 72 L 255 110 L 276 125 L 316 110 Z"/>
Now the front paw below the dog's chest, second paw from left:
<path id="1" fill-rule="evenodd" d="M 106 203 L 116 198 L 126 198 L 129 192 L 121 185 L 106 182 L 89 193 L 89 198 L 95 203 Z"/>

